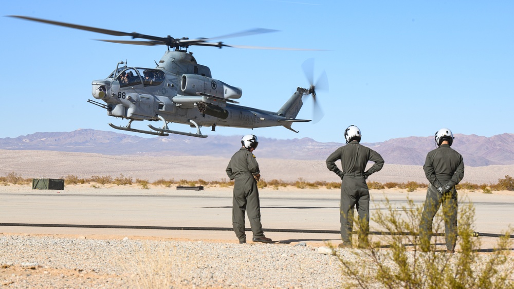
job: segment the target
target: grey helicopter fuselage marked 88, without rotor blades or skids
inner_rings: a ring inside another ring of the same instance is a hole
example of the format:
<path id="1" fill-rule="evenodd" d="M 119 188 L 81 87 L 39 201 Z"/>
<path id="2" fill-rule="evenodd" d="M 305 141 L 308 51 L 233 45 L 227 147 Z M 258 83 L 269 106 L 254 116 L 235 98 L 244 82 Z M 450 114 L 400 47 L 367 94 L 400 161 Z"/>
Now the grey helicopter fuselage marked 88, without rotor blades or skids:
<path id="1" fill-rule="evenodd" d="M 126 64 L 126 63 L 125 63 Z M 189 124 L 191 127 L 265 128 L 290 123 L 302 106 L 302 91 L 285 112 L 270 112 L 240 106 L 233 99 L 241 88 L 211 78 L 209 67 L 196 62 L 191 53 L 167 51 L 157 68 L 123 66 L 106 79 L 93 81 L 93 97 L 103 100 L 109 116 Z M 304 89 L 305 90 L 305 89 Z M 291 117 L 292 116 L 292 117 Z M 302 120 L 297 120 L 302 121 Z"/>

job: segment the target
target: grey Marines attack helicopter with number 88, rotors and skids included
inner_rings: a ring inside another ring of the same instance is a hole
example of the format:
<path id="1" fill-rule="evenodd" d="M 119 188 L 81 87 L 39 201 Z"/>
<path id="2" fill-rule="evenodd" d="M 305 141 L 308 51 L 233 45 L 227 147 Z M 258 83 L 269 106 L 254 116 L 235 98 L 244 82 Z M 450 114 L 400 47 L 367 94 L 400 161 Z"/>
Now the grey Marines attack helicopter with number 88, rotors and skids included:
<path id="1" fill-rule="evenodd" d="M 228 45 L 219 41 L 211 42 L 216 39 L 267 33 L 276 30 L 255 28 L 210 39 L 176 39 L 170 35 L 156 37 L 137 32 L 127 33 L 28 16 L 9 15 L 9 17 L 146 40 L 100 40 L 105 42 L 144 46 L 166 45 L 168 47 L 160 61 L 155 62 L 155 68 L 127 66 L 127 61 L 120 61 L 117 63 L 116 69 L 105 79 L 94 80 L 91 83 L 91 94 L 96 100 L 89 99 L 87 102 L 105 109 L 109 116 L 128 120 L 126 126 L 109 123 L 112 128 L 117 130 L 157 136 L 179 134 L 205 138 L 207 135 L 200 131 L 202 127 L 211 127 L 211 131 L 215 131 L 218 126 L 247 129 L 282 126 L 298 133 L 291 128 L 292 123 L 311 121 L 296 118 L 303 106 L 302 98 L 304 96 L 310 95 L 313 97 L 315 113 L 316 111 L 320 112 L 316 104 L 316 85 L 313 83 L 313 78 L 309 77 L 310 71 L 308 70 L 312 70 L 309 68 L 309 62 L 305 62 L 302 67 L 304 67 L 310 86 L 308 88 L 297 87 L 295 93 L 277 112 L 271 112 L 237 105 L 239 102 L 235 99 L 241 98 L 243 90 L 240 87 L 212 78 L 209 67 L 198 64 L 193 57 L 193 53 L 188 51 L 190 46 L 317 50 L 239 46 Z M 326 81 L 326 74 L 323 73 L 318 83 L 326 83 Z M 161 122 L 162 125 L 149 124 L 150 130 L 131 127 L 133 121 L 143 120 Z M 168 125 L 173 122 L 196 128 L 196 133 L 170 130 Z"/>

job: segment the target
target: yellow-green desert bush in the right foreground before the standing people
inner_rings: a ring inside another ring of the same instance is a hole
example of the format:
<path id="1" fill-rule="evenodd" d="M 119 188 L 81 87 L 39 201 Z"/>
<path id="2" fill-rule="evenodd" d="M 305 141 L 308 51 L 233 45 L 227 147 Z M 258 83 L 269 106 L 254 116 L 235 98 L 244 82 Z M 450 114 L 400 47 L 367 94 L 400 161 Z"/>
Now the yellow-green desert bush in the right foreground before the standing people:
<path id="1" fill-rule="evenodd" d="M 434 218 L 434 236 L 428 251 L 421 250 L 417 231 L 423 205 L 408 198 L 401 208 L 389 200 L 371 215 L 385 234 L 368 239 L 359 250 L 336 250 L 342 274 L 351 278 L 347 288 L 514 288 L 514 257 L 509 228 L 490 254 L 480 251 L 480 239 L 472 237 L 474 207 L 459 196 L 456 254 L 448 254 L 444 242 L 445 212 Z M 464 202 L 462 202 L 464 201 Z M 469 200 L 467 200 L 469 201 Z M 357 224 L 356 234 L 365 228 Z M 441 246 L 444 245 L 444 246 Z"/>

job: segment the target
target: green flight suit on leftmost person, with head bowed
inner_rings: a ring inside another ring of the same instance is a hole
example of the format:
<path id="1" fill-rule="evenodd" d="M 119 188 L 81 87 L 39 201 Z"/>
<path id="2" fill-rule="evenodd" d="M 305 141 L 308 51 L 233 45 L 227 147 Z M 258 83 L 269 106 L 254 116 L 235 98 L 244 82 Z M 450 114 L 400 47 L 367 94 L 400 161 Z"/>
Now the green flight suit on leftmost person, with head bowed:
<path id="1" fill-rule="evenodd" d="M 255 156 L 245 147 L 238 150 L 230 159 L 227 175 L 234 180 L 232 198 L 232 226 L 240 241 L 246 241 L 245 211 L 247 211 L 253 237 L 263 237 L 259 189 L 253 175 L 260 174 Z"/>

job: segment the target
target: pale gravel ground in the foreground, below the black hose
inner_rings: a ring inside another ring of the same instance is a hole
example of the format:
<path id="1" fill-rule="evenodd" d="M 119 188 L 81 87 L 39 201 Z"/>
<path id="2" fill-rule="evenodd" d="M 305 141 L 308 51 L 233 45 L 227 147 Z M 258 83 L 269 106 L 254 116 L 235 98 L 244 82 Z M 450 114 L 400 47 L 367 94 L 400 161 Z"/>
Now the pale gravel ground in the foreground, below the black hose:
<path id="1" fill-rule="evenodd" d="M 348 284 L 338 258 L 320 254 L 322 249 L 328 248 L 0 234 L 0 287 L 334 288 Z M 347 261 L 364 262 L 358 249 L 342 249 L 338 254 Z M 380 255 L 390 255 L 389 250 L 381 250 Z M 489 256 L 479 258 L 486 261 Z M 504 267 L 513 266 L 511 256 Z"/>

